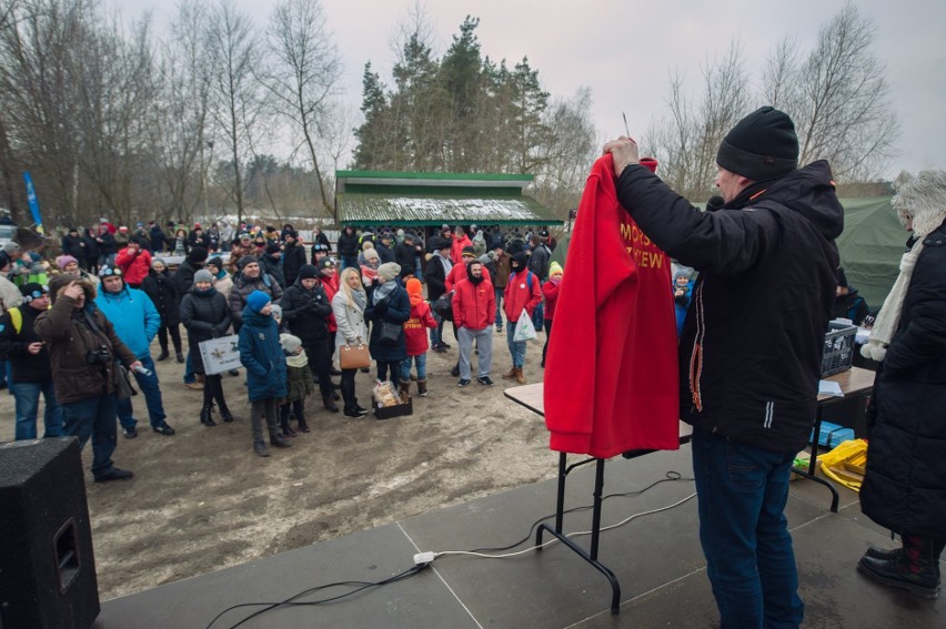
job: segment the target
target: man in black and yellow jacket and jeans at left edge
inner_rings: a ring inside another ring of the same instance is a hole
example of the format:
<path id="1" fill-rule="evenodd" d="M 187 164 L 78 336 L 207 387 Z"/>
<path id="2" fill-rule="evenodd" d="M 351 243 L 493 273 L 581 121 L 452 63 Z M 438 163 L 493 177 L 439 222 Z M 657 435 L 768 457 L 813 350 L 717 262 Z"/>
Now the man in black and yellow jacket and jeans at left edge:
<path id="1" fill-rule="evenodd" d="M 62 412 L 56 402 L 52 368 L 46 343 L 33 329 L 37 317 L 49 308 L 49 288 L 30 283 L 20 286 L 23 303 L 0 317 L 0 356 L 10 359 L 10 393 L 16 402 L 16 440 L 37 438 L 39 396 L 44 404 L 43 437 L 62 436 Z"/>

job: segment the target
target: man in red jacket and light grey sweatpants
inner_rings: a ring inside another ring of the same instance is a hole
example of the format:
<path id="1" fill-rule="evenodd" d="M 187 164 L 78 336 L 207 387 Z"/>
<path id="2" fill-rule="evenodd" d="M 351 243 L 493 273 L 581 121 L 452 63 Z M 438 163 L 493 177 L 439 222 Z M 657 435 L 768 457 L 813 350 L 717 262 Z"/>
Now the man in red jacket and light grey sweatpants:
<path id="1" fill-rule="evenodd" d="M 456 268 L 454 266 L 454 268 Z M 466 278 L 456 284 L 453 293 L 453 327 L 460 341 L 460 382 L 456 386 L 470 384 L 473 341 L 480 352 L 480 375 L 476 382 L 483 386 L 493 386 L 490 367 L 493 365 L 493 322 L 496 316 L 496 296 L 493 284 L 486 277 L 483 265 L 474 260 L 466 265 Z"/>

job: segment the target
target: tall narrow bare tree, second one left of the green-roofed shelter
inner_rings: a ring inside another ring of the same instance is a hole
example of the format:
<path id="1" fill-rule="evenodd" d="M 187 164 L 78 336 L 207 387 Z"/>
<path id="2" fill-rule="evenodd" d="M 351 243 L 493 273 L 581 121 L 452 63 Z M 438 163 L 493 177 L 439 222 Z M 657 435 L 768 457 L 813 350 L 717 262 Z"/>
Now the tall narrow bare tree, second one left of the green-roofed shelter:
<path id="1" fill-rule="evenodd" d="M 223 171 L 229 176 L 219 177 L 219 183 L 236 204 L 239 222 L 245 211 L 244 163 L 252 158 L 252 134 L 263 108 L 253 74 L 260 51 L 249 18 L 236 10 L 232 0 L 220 0 L 212 9 L 207 37 L 211 68 L 209 112 L 229 158 Z"/>

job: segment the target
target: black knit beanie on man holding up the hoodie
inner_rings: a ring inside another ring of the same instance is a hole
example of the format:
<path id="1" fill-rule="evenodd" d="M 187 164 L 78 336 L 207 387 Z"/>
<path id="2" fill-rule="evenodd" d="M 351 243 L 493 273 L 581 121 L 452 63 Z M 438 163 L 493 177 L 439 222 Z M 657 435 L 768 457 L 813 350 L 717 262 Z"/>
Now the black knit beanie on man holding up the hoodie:
<path id="1" fill-rule="evenodd" d="M 726 134 L 716 163 L 727 171 L 754 181 L 791 173 L 798 168 L 798 136 L 795 123 L 783 111 L 763 106 Z"/>

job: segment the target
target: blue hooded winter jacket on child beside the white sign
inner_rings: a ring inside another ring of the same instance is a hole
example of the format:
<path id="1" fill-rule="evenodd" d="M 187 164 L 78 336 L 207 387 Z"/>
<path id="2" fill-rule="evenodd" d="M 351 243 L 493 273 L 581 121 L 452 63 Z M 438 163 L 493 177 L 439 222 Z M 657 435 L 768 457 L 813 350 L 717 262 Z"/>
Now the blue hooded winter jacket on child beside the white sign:
<path id="1" fill-rule="evenodd" d="M 250 402 L 285 397 L 285 356 L 275 319 L 254 313 L 250 306 L 243 308 L 240 326 L 240 362 L 246 367 Z"/>

